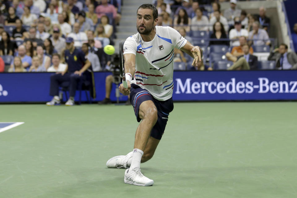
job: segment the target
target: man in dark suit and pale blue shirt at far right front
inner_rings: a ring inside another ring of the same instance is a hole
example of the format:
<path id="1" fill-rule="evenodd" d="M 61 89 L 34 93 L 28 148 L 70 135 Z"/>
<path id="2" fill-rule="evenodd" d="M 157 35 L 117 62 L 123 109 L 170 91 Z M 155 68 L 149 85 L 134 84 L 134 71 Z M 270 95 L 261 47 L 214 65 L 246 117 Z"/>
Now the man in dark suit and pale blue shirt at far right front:
<path id="1" fill-rule="evenodd" d="M 288 52 L 288 45 L 284 43 L 270 53 L 268 60 L 275 61 L 275 67 L 279 70 L 297 69 L 297 55 Z"/>

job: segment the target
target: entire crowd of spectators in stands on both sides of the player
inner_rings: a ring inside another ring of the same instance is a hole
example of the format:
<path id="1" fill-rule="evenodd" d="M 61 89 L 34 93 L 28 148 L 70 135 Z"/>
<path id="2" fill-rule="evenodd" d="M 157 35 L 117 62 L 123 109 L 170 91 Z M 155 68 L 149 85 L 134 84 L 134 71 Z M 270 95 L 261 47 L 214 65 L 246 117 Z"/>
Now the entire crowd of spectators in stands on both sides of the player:
<path id="1" fill-rule="evenodd" d="M 0 0 L 0 55 L 14 57 L 9 68 L 11 72 L 57 71 L 63 68 L 61 64 L 65 63 L 66 38 L 71 37 L 74 47 L 82 49 L 85 56 L 93 61 L 93 71 L 104 71 L 108 69 L 105 65 L 109 58 L 102 48 L 114 44 L 115 25 L 121 19 L 118 2 L 8 0 L 4 3 Z M 207 4 L 209 2 L 212 3 Z M 221 2 L 229 2 L 229 7 L 222 10 Z M 191 58 L 182 51 L 175 51 L 174 62 L 184 62 L 187 69 L 212 70 L 218 61 L 232 61 L 235 64 L 239 60 L 246 61 L 244 64 L 252 62 L 252 65 L 228 69 L 257 69 L 252 55 L 255 49 L 264 46 L 263 49 L 273 51 L 275 47 L 269 38 L 270 19 L 265 7 L 260 7 L 258 14 L 254 15 L 240 9 L 237 0 L 153 0 L 153 4 L 159 13 L 157 25 L 175 28 L 193 45 L 205 50 L 201 67 L 191 67 Z M 297 24 L 292 34 L 295 49 L 296 33 Z M 88 44 L 88 49 L 83 50 L 84 43 Z M 222 48 L 221 52 L 212 51 L 218 46 Z M 222 56 L 216 59 L 216 53 Z M 19 58 L 22 64 L 19 64 Z M 270 60 L 276 61 L 276 68 L 294 68 L 295 65 L 277 67 L 279 59 L 270 57 Z"/>

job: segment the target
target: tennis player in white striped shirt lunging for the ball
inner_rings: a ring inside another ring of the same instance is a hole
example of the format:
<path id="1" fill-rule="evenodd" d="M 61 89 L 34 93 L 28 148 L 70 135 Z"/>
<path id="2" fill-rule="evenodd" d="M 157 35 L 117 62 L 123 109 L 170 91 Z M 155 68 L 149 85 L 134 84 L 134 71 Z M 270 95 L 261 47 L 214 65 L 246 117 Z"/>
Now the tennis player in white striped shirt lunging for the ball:
<path id="1" fill-rule="evenodd" d="M 136 130 L 133 151 L 112 157 L 106 163 L 108 168 L 127 168 L 124 182 L 138 186 L 154 183 L 140 172 L 140 163 L 153 157 L 173 110 L 174 48 L 191 55 L 192 65 L 197 65 L 202 56 L 201 48 L 193 46 L 175 29 L 156 26 L 157 17 L 155 6 L 141 5 L 137 10 L 138 33 L 123 45 L 128 88 L 120 84 L 119 90 L 124 95 L 130 94 L 137 121 L 142 121 Z"/>

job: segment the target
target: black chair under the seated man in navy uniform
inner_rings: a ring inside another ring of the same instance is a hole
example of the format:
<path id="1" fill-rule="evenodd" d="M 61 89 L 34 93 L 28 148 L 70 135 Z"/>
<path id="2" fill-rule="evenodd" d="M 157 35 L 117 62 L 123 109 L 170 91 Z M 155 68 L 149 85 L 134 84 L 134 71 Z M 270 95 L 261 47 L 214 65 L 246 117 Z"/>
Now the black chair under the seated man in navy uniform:
<path id="1" fill-rule="evenodd" d="M 96 89 L 95 89 L 95 80 L 94 80 L 94 73 L 92 70 L 88 69 L 87 71 L 84 72 L 84 78 L 81 78 L 81 80 L 77 84 L 77 91 L 80 92 L 80 99 L 79 99 L 79 105 L 81 104 L 81 94 L 82 91 L 85 92 L 87 101 L 89 104 L 92 103 L 92 98 L 96 98 Z M 61 91 L 64 92 L 66 100 L 68 100 L 68 94 L 67 92 L 69 91 L 69 85 L 70 82 L 63 82 L 61 84 Z M 89 96 L 88 96 L 89 92 Z"/>

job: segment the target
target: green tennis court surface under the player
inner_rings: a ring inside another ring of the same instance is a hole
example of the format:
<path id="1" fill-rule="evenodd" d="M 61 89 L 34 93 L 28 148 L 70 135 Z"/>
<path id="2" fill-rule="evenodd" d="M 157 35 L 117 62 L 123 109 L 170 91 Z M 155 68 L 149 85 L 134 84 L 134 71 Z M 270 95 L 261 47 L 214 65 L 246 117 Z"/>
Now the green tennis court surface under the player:
<path id="1" fill-rule="evenodd" d="M 106 161 L 133 149 L 124 105 L 0 105 L 0 197 L 297 197 L 297 102 L 174 103 L 151 187 Z M 128 113 L 127 113 L 128 112 Z"/>

